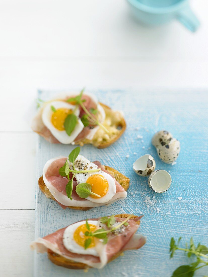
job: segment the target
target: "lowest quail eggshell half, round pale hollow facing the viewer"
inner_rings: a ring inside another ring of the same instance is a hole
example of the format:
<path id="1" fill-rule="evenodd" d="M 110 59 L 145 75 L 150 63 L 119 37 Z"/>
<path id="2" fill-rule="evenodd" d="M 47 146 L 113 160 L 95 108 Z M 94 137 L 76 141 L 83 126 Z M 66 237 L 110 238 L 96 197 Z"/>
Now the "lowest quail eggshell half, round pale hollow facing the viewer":
<path id="1" fill-rule="evenodd" d="M 148 178 L 149 187 L 156 193 L 163 193 L 170 188 L 171 176 L 166 170 L 155 170 Z"/>

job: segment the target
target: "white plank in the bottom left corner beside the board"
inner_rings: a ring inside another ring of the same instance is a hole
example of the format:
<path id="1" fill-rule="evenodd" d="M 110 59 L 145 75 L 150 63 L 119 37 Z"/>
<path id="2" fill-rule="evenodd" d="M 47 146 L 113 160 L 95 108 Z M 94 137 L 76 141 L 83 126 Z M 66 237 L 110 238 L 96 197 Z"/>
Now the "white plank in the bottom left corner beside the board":
<path id="1" fill-rule="evenodd" d="M 0 210 L 0 276 L 29 277 L 33 272 L 34 216 L 30 210 Z"/>

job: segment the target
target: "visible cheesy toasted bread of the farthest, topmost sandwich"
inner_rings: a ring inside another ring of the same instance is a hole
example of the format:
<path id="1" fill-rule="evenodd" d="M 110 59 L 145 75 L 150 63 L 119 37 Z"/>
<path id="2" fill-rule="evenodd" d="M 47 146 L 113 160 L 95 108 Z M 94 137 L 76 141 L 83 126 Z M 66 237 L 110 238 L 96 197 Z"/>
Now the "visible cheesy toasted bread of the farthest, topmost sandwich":
<path id="1" fill-rule="evenodd" d="M 83 146 L 84 144 L 90 143 L 97 148 L 106 148 L 114 143 L 116 140 L 118 140 L 120 136 L 124 133 L 126 129 L 126 122 L 122 113 L 118 111 L 113 111 L 105 104 L 99 104 L 103 107 L 106 113 L 106 118 L 102 125 L 104 125 L 106 129 L 109 130 L 109 133 L 107 134 L 105 130 L 99 128 L 92 140 L 83 139 L 79 140 L 75 144 Z"/>

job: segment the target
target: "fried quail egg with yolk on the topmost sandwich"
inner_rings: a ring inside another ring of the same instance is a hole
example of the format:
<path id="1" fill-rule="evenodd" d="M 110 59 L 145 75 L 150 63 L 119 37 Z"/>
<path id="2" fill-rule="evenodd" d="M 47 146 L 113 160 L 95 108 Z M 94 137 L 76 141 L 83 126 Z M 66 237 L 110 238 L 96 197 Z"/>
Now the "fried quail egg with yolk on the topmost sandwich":
<path id="1" fill-rule="evenodd" d="M 52 107 L 54 109 L 52 110 Z M 75 129 L 69 136 L 64 127 L 64 121 L 68 114 L 74 113 L 77 116 Z M 79 109 L 64 101 L 53 101 L 45 105 L 42 112 L 43 124 L 50 130 L 52 135 L 61 143 L 69 144 L 75 140 L 84 128 L 81 119 L 79 119 Z"/>

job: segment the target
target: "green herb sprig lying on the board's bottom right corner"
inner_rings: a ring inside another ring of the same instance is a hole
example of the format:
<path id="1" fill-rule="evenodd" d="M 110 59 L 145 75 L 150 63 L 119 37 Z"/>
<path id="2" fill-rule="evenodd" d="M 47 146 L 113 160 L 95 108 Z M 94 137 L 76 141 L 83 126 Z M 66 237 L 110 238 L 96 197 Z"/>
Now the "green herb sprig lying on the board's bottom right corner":
<path id="1" fill-rule="evenodd" d="M 196 261 L 191 263 L 190 265 L 182 265 L 176 268 L 171 277 L 192 277 L 194 272 L 204 266 L 208 265 L 208 248 L 205 245 L 201 245 L 198 243 L 197 246 L 194 245 L 193 238 L 190 239 L 190 246 L 188 247 L 188 243 L 186 243 L 186 248 L 180 248 L 179 242 L 181 237 L 179 237 L 178 242 L 174 238 L 171 238 L 170 241 L 170 258 L 173 258 L 173 255 L 176 250 L 181 250 L 187 253 L 187 256 L 190 258 L 192 255 L 196 256 Z M 203 260 L 205 258 L 206 260 Z M 200 265 L 203 264 L 203 265 Z"/>

